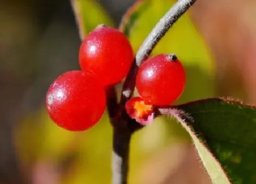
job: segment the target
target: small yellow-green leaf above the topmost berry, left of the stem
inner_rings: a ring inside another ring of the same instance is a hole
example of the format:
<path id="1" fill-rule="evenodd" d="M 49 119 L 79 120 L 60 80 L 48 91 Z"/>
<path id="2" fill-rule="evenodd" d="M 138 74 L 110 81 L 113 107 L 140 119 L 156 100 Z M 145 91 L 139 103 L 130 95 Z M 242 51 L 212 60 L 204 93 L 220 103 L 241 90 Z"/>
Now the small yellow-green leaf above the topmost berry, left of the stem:
<path id="1" fill-rule="evenodd" d="M 99 24 L 113 26 L 111 18 L 96 0 L 71 0 L 81 39 Z"/>

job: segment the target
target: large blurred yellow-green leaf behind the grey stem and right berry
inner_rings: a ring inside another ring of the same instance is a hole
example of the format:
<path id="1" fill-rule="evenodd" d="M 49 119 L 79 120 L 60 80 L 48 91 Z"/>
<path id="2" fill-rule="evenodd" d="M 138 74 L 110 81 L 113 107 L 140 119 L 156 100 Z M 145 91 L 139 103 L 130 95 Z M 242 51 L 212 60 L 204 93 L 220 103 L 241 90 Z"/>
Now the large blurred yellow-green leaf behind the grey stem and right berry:
<path id="1" fill-rule="evenodd" d="M 175 2 L 176 0 L 139 0 L 123 16 L 120 30 L 127 35 L 135 52 Z M 215 64 L 188 13 L 171 27 L 152 55 L 159 53 L 176 53 L 185 66 L 187 85 L 177 103 L 217 96 L 214 83 Z"/>

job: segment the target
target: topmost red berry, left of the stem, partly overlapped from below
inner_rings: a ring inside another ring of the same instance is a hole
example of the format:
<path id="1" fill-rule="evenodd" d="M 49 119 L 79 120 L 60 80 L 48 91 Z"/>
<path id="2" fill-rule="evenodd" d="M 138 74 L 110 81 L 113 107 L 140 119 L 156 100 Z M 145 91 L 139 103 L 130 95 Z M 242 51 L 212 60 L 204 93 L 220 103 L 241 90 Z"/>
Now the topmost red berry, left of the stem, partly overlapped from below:
<path id="1" fill-rule="evenodd" d="M 120 82 L 132 62 L 130 42 L 122 32 L 111 27 L 97 27 L 80 46 L 80 67 L 93 71 L 104 85 Z"/>

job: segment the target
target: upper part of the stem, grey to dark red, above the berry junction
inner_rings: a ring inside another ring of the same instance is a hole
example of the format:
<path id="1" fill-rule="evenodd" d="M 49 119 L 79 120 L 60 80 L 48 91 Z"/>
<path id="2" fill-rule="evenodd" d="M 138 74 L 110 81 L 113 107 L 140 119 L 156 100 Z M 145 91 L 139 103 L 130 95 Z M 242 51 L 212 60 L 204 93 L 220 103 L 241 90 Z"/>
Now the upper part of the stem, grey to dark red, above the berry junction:
<path id="1" fill-rule="evenodd" d="M 164 37 L 170 27 L 196 2 L 196 0 L 178 0 L 175 5 L 163 16 L 149 33 L 136 54 L 133 66 L 124 82 L 120 105 L 124 105 L 133 95 L 135 78 L 139 66 L 150 55 L 156 44 Z"/>

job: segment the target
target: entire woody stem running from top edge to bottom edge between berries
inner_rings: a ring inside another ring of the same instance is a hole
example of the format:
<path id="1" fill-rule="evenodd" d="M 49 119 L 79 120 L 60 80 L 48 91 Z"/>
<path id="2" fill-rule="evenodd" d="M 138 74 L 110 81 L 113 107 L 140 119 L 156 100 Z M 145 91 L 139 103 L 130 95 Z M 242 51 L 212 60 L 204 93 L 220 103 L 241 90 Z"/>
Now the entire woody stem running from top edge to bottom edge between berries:
<path id="1" fill-rule="evenodd" d="M 196 0 L 178 0 L 176 4 L 157 23 L 149 36 L 145 39 L 133 61 L 128 76 L 124 82 L 119 109 L 115 117 L 111 118 L 114 127 L 113 157 L 112 157 L 112 184 L 127 184 L 129 145 L 132 133 L 141 126 L 131 120 L 125 111 L 125 103 L 129 100 L 135 88 L 135 79 L 141 63 L 144 62 L 153 48 L 165 35 L 169 28 L 193 5 Z M 108 103 L 109 104 L 109 103 Z M 111 106 L 111 105 L 108 105 Z M 110 117 L 112 115 L 110 114 Z"/>

